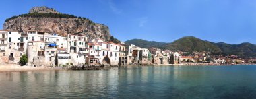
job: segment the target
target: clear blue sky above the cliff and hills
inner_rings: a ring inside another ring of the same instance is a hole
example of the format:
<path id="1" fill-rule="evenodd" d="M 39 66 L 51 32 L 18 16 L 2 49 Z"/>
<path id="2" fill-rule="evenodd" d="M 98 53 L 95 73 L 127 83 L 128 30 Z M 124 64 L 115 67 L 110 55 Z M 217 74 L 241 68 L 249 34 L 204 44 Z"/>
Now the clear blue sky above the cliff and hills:
<path id="1" fill-rule="evenodd" d="M 5 0 L 1 1 L 0 24 L 36 6 L 105 24 L 121 41 L 172 42 L 195 36 L 212 42 L 256 44 L 254 0 Z"/>

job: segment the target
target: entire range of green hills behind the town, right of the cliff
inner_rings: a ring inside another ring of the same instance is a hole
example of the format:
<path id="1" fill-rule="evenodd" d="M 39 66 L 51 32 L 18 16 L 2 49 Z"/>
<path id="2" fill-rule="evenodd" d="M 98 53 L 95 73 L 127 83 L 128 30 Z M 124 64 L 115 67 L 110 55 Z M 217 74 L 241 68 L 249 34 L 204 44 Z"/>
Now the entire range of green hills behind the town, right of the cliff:
<path id="1" fill-rule="evenodd" d="M 201 40 L 194 36 L 185 36 L 174 42 L 156 42 L 142 39 L 127 40 L 127 44 L 135 44 L 142 48 L 156 47 L 160 49 L 169 49 L 172 51 L 210 51 L 212 53 L 224 55 L 238 55 L 239 57 L 249 58 L 256 57 L 256 45 L 249 42 L 241 44 L 227 44 L 224 42 L 209 42 Z"/>

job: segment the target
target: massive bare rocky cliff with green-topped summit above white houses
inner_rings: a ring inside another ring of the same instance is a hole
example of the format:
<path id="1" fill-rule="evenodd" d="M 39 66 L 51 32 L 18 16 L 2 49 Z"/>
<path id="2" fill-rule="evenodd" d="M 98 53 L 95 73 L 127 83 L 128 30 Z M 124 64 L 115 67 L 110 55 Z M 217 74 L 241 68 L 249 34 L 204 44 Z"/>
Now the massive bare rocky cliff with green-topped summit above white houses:
<path id="1" fill-rule="evenodd" d="M 104 41 L 110 40 L 111 37 L 108 26 L 96 24 L 88 18 L 60 13 L 48 7 L 33 7 L 29 13 L 7 18 L 3 29 L 19 32 L 28 30 L 54 32 L 61 36 L 66 36 L 68 33 L 81 33 Z"/>

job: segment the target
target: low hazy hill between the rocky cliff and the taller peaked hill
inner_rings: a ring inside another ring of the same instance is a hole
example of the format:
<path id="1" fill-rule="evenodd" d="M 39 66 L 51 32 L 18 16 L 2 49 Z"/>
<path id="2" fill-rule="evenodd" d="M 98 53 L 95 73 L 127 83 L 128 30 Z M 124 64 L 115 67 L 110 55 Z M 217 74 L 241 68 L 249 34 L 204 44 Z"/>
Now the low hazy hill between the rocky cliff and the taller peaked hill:
<path id="1" fill-rule="evenodd" d="M 134 44 L 135 46 L 140 46 L 141 48 L 161 48 L 164 49 L 163 46 L 166 46 L 168 43 L 165 42 L 155 42 L 155 41 L 147 41 L 142 39 L 132 39 L 125 41 L 125 44 Z"/>

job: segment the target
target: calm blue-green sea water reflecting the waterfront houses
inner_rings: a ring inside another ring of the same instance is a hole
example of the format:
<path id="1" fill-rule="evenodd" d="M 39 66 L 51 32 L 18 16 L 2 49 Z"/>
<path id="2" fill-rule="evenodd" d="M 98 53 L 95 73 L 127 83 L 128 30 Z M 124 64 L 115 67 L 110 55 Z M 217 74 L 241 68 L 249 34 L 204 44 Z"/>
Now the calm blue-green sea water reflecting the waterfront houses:
<path id="1" fill-rule="evenodd" d="M 256 65 L 0 73 L 0 98 L 256 98 Z"/>

